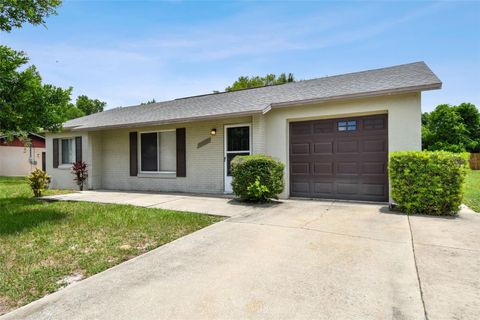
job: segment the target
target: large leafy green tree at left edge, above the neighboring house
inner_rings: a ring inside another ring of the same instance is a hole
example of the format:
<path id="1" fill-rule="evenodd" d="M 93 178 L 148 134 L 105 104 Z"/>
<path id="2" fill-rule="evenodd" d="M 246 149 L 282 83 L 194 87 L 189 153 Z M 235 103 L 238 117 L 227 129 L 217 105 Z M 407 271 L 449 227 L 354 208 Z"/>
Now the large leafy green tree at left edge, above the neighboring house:
<path id="1" fill-rule="evenodd" d="M 10 139 L 58 131 L 72 113 L 72 88 L 43 84 L 24 52 L 0 46 L 0 132 Z"/>

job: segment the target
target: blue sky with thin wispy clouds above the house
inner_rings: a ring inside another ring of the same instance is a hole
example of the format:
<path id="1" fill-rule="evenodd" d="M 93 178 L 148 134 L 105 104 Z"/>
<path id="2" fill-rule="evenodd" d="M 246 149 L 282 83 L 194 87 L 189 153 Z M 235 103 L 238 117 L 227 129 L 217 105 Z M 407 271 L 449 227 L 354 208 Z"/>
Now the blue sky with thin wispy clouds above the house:
<path id="1" fill-rule="evenodd" d="M 480 106 L 477 1 L 69 1 L 46 26 L 0 33 L 44 83 L 107 108 L 223 90 L 239 76 L 296 79 L 425 61 L 422 95 Z"/>

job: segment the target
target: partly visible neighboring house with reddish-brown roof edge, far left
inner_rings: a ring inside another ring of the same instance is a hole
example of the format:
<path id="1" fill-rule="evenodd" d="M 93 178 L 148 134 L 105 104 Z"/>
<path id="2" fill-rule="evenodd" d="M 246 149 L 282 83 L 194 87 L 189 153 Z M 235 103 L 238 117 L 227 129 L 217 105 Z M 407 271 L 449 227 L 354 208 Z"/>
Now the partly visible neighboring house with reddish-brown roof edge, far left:
<path id="1" fill-rule="evenodd" d="M 31 143 L 0 136 L 0 176 L 26 176 L 36 168 L 45 170 L 45 138 L 29 135 Z"/>

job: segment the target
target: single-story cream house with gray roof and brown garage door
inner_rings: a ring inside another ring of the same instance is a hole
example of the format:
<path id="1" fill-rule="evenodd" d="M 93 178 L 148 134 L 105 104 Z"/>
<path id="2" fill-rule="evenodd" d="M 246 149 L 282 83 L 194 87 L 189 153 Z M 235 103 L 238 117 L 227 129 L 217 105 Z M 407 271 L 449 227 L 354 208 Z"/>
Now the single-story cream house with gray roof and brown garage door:
<path id="1" fill-rule="evenodd" d="M 423 62 L 116 108 L 47 134 L 52 187 L 229 193 L 236 155 L 285 164 L 287 197 L 387 201 L 388 152 L 421 150 L 421 92 L 441 88 Z"/>

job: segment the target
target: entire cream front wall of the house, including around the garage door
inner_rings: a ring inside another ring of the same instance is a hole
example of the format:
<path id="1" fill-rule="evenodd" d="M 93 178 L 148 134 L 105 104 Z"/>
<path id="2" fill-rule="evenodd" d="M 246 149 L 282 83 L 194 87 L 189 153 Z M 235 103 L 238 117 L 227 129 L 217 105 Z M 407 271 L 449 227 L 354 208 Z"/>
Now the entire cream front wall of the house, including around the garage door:
<path id="1" fill-rule="evenodd" d="M 420 93 L 364 98 L 272 109 L 265 115 L 217 119 L 183 124 L 116 129 L 95 132 L 65 132 L 47 135 L 47 171 L 53 188 L 76 188 L 70 168 L 53 169 L 52 139 L 82 136 L 83 158 L 89 166 L 88 187 L 93 189 L 224 192 L 224 125 L 252 124 L 252 152 L 265 153 L 285 163 L 285 191 L 289 196 L 288 123 L 290 121 L 388 114 L 389 151 L 421 150 Z M 186 128 L 187 176 L 129 175 L 129 132 Z M 215 128 L 217 134 L 210 135 Z M 210 139 L 209 143 L 202 143 Z"/>

